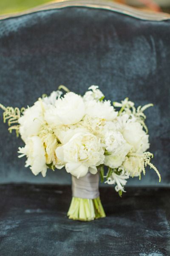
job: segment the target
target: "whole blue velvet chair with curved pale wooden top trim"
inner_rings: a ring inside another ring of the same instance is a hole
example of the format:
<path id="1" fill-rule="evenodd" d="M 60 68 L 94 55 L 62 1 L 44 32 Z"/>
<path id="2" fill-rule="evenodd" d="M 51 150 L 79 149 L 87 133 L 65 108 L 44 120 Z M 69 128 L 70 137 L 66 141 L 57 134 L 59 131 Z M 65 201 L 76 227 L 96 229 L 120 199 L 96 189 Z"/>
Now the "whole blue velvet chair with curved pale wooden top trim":
<path id="1" fill-rule="evenodd" d="M 96 84 L 106 99 L 153 103 L 147 126 L 162 181 L 148 169 L 122 198 L 101 186 L 107 218 L 68 220 L 70 176 L 24 168 L 23 143 L 1 118 L 0 256 L 170 255 L 170 16 L 78 0 L 1 16 L 0 103 L 33 105 L 59 84 L 77 93 Z"/>

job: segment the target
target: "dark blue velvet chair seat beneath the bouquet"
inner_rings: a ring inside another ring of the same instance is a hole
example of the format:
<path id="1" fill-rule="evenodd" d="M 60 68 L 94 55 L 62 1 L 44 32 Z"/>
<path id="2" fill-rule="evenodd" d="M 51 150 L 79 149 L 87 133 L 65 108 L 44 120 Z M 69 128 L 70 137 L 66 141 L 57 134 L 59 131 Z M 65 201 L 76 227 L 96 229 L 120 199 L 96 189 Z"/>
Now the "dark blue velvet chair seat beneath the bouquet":
<path id="1" fill-rule="evenodd" d="M 169 256 L 170 189 L 100 188 L 106 218 L 66 216 L 71 186 L 0 185 L 0 256 Z"/>

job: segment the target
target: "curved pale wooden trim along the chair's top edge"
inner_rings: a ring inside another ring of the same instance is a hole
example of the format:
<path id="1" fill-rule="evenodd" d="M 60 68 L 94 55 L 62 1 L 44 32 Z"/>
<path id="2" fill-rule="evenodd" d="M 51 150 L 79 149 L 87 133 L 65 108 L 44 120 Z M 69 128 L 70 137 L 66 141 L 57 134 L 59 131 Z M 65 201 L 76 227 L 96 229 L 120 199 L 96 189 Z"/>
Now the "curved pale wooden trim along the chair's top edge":
<path id="1" fill-rule="evenodd" d="M 96 9 L 106 9 L 113 12 L 119 12 L 124 15 L 132 16 L 141 20 L 153 20 L 153 21 L 161 21 L 161 20 L 170 20 L 170 15 L 163 12 L 144 12 L 123 4 L 113 3 L 107 0 L 63 0 L 61 2 L 51 2 L 45 5 L 37 6 L 35 8 L 26 10 L 24 12 L 9 14 L 9 15 L 1 15 L 0 20 L 22 16 L 34 12 L 40 12 L 51 9 L 61 9 L 65 7 L 90 7 Z"/>

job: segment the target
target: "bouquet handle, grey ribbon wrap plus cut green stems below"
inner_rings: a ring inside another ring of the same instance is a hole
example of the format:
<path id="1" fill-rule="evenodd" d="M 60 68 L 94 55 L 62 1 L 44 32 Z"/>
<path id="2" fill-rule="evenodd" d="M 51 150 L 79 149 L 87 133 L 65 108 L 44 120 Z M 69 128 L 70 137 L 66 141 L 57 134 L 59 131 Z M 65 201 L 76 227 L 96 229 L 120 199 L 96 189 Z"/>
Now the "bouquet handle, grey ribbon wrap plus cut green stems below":
<path id="1" fill-rule="evenodd" d="M 72 194 L 67 214 L 70 219 L 92 221 L 106 216 L 99 198 L 99 173 L 88 172 L 79 179 L 72 176 Z"/>

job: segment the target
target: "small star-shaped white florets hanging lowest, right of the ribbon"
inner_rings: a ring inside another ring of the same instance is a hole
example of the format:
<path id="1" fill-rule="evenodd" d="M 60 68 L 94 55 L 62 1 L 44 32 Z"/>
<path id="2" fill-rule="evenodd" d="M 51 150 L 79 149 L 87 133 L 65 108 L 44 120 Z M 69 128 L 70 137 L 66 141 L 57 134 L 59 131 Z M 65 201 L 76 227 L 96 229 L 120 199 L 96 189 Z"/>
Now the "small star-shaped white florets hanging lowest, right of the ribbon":
<path id="1" fill-rule="evenodd" d="M 119 195 L 122 195 L 122 192 L 126 192 L 124 189 L 124 186 L 126 185 L 128 178 L 129 178 L 129 174 L 125 172 L 123 168 L 119 167 L 118 169 L 115 169 L 115 170 L 113 169 L 111 176 L 108 177 L 105 183 L 116 184 L 115 186 L 116 192 L 120 191 L 121 193 L 119 193 Z"/>

